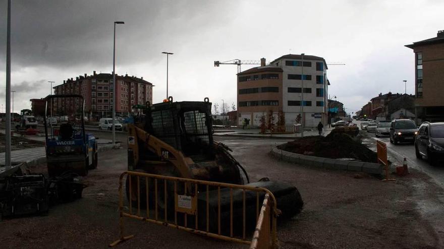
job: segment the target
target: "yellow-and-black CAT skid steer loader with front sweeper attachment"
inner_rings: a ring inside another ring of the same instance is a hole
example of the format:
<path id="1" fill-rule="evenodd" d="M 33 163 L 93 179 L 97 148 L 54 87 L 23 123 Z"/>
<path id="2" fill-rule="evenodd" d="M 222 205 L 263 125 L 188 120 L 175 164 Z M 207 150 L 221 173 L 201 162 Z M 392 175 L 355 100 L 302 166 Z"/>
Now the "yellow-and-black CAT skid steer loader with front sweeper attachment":
<path id="1" fill-rule="evenodd" d="M 128 125 L 129 171 L 263 187 L 270 190 L 275 196 L 278 209 L 282 212 L 280 219 L 295 216 L 302 209 L 302 198 L 294 186 L 283 182 L 269 181 L 267 178 L 250 183 L 245 169 L 230 154 L 231 149 L 223 143 L 213 141 L 211 103 L 208 98 L 205 98 L 203 102 L 173 102 L 173 98 L 170 97 L 168 102 L 152 106 L 146 103 L 145 106 L 139 105 L 133 108 L 140 109 L 140 114 L 134 118 L 134 124 Z M 169 189 L 177 187 L 178 192 L 181 191 L 181 188 L 187 188 L 185 185 L 173 186 L 173 182 L 167 182 L 166 185 Z M 130 181 L 127 179 L 127 197 L 129 201 L 132 201 L 133 207 L 139 203 L 141 208 L 146 208 L 146 203 L 148 203 L 149 209 L 154 208 L 154 201 L 151 198 L 158 196 L 157 209 L 163 210 L 165 208 L 163 200 L 167 200 L 167 210 L 174 211 L 173 197 L 164 196 L 167 191 L 159 190 L 158 193 L 152 193 L 155 190 L 153 187 L 149 187 L 149 200 L 147 201 L 146 193 L 142 193 L 145 191 L 145 181 L 140 181 L 141 193 L 140 200 L 138 200 L 136 191 L 132 191 L 130 196 L 129 183 Z M 151 184 L 148 183 L 149 186 L 152 186 Z M 164 185 L 160 181 L 157 184 Z M 131 185 L 133 190 L 137 189 L 135 180 L 131 181 Z M 189 187 L 194 188 L 194 186 Z M 188 193 L 195 193 L 194 191 L 188 190 Z M 207 191 L 205 188 L 198 189 L 199 201 L 200 195 L 205 197 L 205 191 Z M 214 189 L 208 191 L 217 192 Z M 221 190 L 220 192 L 220 206 L 223 210 L 221 215 L 230 215 L 230 191 Z M 242 200 L 242 191 L 239 193 L 235 191 L 233 195 L 235 200 Z M 247 196 L 247 214 L 254 213 L 251 215 L 251 219 L 254 219 L 251 223 L 255 224 L 256 207 L 249 205 L 249 203 L 256 204 L 256 195 Z M 217 205 L 217 198 L 215 198 L 213 203 L 210 203 L 209 209 L 217 209 Z M 239 205 L 235 204 L 235 209 L 236 207 Z M 228 212 L 224 214 L 224 210 L 228 210 Z M 235 212 L 237 211 L 242 213 L 242 205 L 240 205 L 240 210 L 235 210 Z M 175 214 L 168 214 L 168 217 L 175 217 Z M 210 215 L 209 219 L 211 218 Z M 205 219 L 205 217 L 199 217 L 199 222 L 205 223 Z"/>

